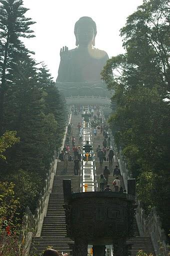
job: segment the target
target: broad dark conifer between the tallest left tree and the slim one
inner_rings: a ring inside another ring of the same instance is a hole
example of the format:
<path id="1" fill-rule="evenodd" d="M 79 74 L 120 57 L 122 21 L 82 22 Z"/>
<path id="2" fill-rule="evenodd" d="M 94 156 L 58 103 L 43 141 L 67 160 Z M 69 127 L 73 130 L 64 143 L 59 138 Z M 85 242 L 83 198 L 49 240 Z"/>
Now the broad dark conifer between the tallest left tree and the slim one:
<path id="1" fill-rule="evenodd" d="M 13 69 L 13 86 L 5 97 L 5 123 L 15 129 L 20 142 L 11 149 L 8 162 L 13 170 L 22 168 L 39 172 L 43 176 L 44 100 L 38 87 L 36 62 L 28 55 L 17 62 Z"/>

